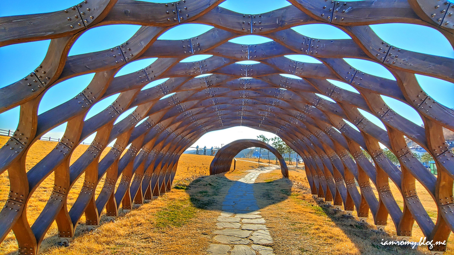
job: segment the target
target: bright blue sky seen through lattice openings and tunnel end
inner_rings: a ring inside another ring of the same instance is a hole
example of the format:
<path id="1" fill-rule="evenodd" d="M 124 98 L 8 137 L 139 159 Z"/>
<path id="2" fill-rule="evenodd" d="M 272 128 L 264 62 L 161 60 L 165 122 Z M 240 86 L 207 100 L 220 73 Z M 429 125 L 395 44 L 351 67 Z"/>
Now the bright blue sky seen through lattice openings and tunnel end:
<path id="1" fill-rule="evenodd" d="M 161 0 L 149 1 L 167 2 Z M 52 1 L 52 4 L 36 4 L 36 1 L 31 0 L 6 0 L 2 2 L 3 4 L 2 8 L 0 9 L 0 16 L 58 11 L 73 6 L 79 2 L 80 0 L 59 0 Z M 260 14 L 288 5 L 289 2 L 287 2 L 286 0 L 226 0 L 221 4 L 221 6 L 224 8 L 245 14 Z M 23 8 L 23 6 L 33 6 L 33 8 Z M 140 26 L 138 25 L 109 25 L 90 29 L 76 41 L 76 43 L 71 48 L 69 55 L 71 56 L 100 51 L 113 46 L 117 46 L 129 39 L 139 29 L 139 27 Z M 168 32 L 163 34 L 160 39 L 187 39 L 198 36 L 211 28 L 211 26 L 202 24 L 182 24 L 170 29 Z M 371 28 L 381 39 L 387 41 L 388 43 L 391 43 L 396 47 L 436 56 L 454 58 L 454 51 L 448 40 L 445 39 L 441 35 L 441 33 L 432 28 L 413 24 L 379 24 L 371 25 Z M 317 39 L 350 38 L 340 29 L 328 24 L 303 25 L 294 27 L 293 29 L 300 34 Z M 119 33 L 118 31 L 122 32 Z M 232 39 L 231 41 L 241 44 L 258 44 L 270 41 L 270 39 L 259 36 L 242 36 L 236 39 Z M 29 74 L 36 66 L 38 66 L 41 63 L 42 59 L 44 59 L 49 42 L 49 40 L 42 40 L 0 47 L 0 57 L 2 59 L 8 59 L 8 61 L 0 62 L 1 70 L 4 73 L 8 74 L 7 76 L 4 76 L 4 78 L 0 81 L 0 88 L 23 78 L 24 76 Z M 191 57 L 191 59 L 186 60 L 193 61 L 206 57 L 209 56 L 195 56 Z M 308 56 L 292 55 L 287 57 L 298 61 L 314 63 L 318 62 L 317 59 L 313 59 Z M 154 58 L 132 62 L 124 66 L 124 68 L 120 70 L 117 76 L 140 70 L 148 66 L 155 60 L 156 59 Z M 380 76 L 383 78 L 394 79 L 391 73 L 380 64 L 360 59 L 345 60 L 354 68 L 357 68 L 365 73 Z M 39 113 L 45 112 L 76 96 L 90 82 L 91 78 L 93 78 L 93 74 L 87 74 L 65 80 L 53 86 L 44 95 L 43 100 L 40 104 Z M 417 79 L 420 82 L 421 87 L 435 100 L 450 108 L 454 108 L 454 84 L 440 79 L 421 75 L 417 75 Z M 151 84 L 148 84 L 147 87 L 157 85 L 162 81 L 155 81 Z M 339 81 L 332 82 L 339 87 L 355 91 L 354 88 L 352 88 L 348 84 Z M 118 95 L 114 95 L 98 102 L 89 111 L 87 118 L 90 118 L 98 112 L 102 111 L 112 101 L 114 101 L 117 96 Z M 410 119 L 418 125 L 422 124 L 421 118 L 410 106 L 392 98 L 384 97 L 384 100 L 394 111 L 398 112 L 403 117 Z M 122 117 L 125 117 L 127 114 L 129 114 L 129 111 Z M 371 121 L 380 125 L 377 118 L 370 116 L 370 114 L 368 115 L 368 113 L 365 113 L 365 115 L 366 117 L 370 118 Z M 0 129 L 15 129 L 19 121 L 18 117 L 19 107 L 0 114 Z M 381 124 L 380 126 L 383 125 Z M 50 134 L 46 136 L 50 135 L 51 137 L 61 137 L 62 132 L 64 131 L 64 127 L 65 124 L 54 129 Z M 239 129 L 244 130 L 244 132 L 242 133 L 238 131 L 238 128 L 231 130 L 229 129 L 227 131 L 217 131 L 211 134 L 207 134 L 206 136 L 201 138 L 200 142 L 197 143 L 199 144 L 199 146 L 203 146 L 203 143 L 206 143 L 204 145 L 206 145 L 207 147 L 220 146 L 221 143 L 224 143 L 224 140 L 222 140 L 220 137 L 232 137 L 232 140 L 235 140 L 238 138 L 254 138 L 256 135 L 263 133 L 259 131 L 250 131 L 245 127 L 239 127 Z M 249 133 L 249 131 L 252 133 Z M 242 137 L 240 136 L 240 134 L 245 134 L 249 137 Z M 268 134 L 267 136 L 269 137 L 272 135 Z M 208 138 L 206 139 L 205 137 Z"/>

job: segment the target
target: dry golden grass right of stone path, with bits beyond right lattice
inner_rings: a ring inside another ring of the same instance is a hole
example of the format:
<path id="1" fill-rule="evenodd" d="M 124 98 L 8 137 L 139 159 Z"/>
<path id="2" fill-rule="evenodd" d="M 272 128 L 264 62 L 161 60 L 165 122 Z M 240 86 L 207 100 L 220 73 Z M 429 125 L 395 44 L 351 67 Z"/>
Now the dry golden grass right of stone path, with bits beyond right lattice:
<path id="1" fill-rule="evenodd" d="M 376 234 L 372 231 L 376 228 L 371 213 L 366 225 L 355 219 L 344 218 L 341 213 L 316 203 L 310 194 L 304 170 L 289 169 L 289 175 L 291 185 L 280 179 L 280 170 L 257 178 L 256 182 L 266 182 L 268 187 L 254 185 L 259 207 L 263 207 L 260 211 L 267 220 L 275 241 L 275 254 L 430 254 L 426 247 L 412 250 L 381 245 L 382 238 L 397 239 L 391 218 L 385 228 L 387 234 Z M 394 189 L 398 194 L 397 188 Z M 288 196 L 289 199 L 282 199 L 282 196 Z M 270 203 L 272 200 L 282 201 Z M 426 209 L 430 208 L 428 206 Z M 436 215 L 436 208 L 430 209 Z M 354 215 L 356 216 L 355 213 Z M 411 241 L 419 241 L 422 236 L 424 235 L 415 224 Z M 448 240 L 448 251 L 445 254 L 454 254 L 453 250 L 454 243 Z"/>

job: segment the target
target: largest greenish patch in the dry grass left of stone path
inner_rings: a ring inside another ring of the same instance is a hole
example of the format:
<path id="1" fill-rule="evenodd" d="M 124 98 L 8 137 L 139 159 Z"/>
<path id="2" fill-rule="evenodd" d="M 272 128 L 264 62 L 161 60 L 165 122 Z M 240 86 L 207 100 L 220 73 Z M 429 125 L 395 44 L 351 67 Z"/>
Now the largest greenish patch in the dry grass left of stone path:
<path id="1" fill-rule="evenodd" d="M 174 200 L 156 214 L 156 227 L 181 227 L 195 216 L 197 209 L 185 200 Z"/>

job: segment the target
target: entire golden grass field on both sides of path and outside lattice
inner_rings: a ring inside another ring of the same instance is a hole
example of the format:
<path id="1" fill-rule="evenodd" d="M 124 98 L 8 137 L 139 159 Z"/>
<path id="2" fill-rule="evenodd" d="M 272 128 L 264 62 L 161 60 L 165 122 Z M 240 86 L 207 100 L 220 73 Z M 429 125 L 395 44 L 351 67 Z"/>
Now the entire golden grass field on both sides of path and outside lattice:
<path id="1" fill-rule="evenodd" d="M 6 141 L 0 137 L 0 143 Z M 27 157 L 27 171 L 56 145 L 55 142 L 38 141 Z M 76 148 L 71 161 L 80 157 L 88 145 Z M 105 155 L 106 152 L 103 152 Z M 101 219 L 101 226 L 89 232 L 80 220 L 76 236 L 70 247 L 56 246 L 57 226 L 54 223 L 44 241 L 44 254 L 206 254 L 209 241 L 214 237 L 216 217 L 220 205 L 233 181 L 243 177 L 248 169 L 258 167 L 256 159 L 241 159 L 236 170 L 206 177 L 212 156 L 182 155 L 171 192 L 127 214 L 121 213 L 116 222 Z M 245 160 L 245 161 L 243 161 Z M 264 166 L 268 165 L 265 161 Z M 273 162 L 271 162 L 273 163 Z M 262 174 L 254 184 L 256 198 L 262 215 L 274 238 L 275 254 L 429 254 L 427 248 L 417 251 L 396 246 L 381 246 L 381 238 L 396 237 L 393 223 L 388 220 L 387 234 L 375 234 L 371 216 L 369 225 L 354 219 L 345 219 L 331 209 L 320 207 L 310 195 L 302 165 L 290 167 L 290 180 L 281 179 L 280 170 Z M 29 223 L 39 216 L 53 186 L 53 175 L 47 177 L 27 204 Z M 68 195 L 71 206 L 81 190 L 83 176 Z M 102 180 L 103 182 L 103 180 Z M 98 187 L 102 187 L 102 182 Z M 436 220 L 433 200 L 420 184 L 421 203 Z M 96 193 L 99 194 L 100 188 Z M 7 173 L 0 175 L 0 205 L 9 192 Z M 394 197 L 403 205 L 402 196 L 392 186 Z M 378 194 L 376 194 L 378 197 Z M 418 226 L 413 228 L 413 240 L 422 236 Z M 17 242 L 11 232 L 0 244 L 0 254 L 17 254 Z M 453 254 L 453 242 L 448 242 L 448 252 Z"/>

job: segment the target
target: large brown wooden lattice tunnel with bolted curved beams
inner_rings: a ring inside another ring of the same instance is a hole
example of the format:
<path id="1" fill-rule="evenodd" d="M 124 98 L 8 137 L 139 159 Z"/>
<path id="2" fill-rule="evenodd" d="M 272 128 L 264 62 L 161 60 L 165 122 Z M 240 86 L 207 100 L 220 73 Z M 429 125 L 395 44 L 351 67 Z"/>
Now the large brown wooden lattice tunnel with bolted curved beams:
<path id="1" fill-rule="evenodd" d="M 369 25 L 419 24 L 439 31 L 453 44 L 454 3 L 289 2 L 291 5 L 281 9 L 248 15 L 219 7 L 220 0 L 85 0 L 57 12 L 1 17 L 0 46 L 43 39 L 51 42 L 36 69 L 0 89 L 0 113 L 20 106 L 19 125 L 0 149 L 0 173 L 8 171 L 10 180 L 10 192 L 0 212 L 0 240 L 13 230 L 19 254 L 39 253 L 44 235 L 54 221 L 59 236 L 71 240 L 83 214 L 86 225 L 96 226 L 103 209 L 107 216 L 115 217 L 120 208 L 129 210 L 134 204 L 169 191 L 178 159 L 186 148 L 206 132 L 233 126 L 248 126 L 281 137 L 303 157 L 314 196 L 343 206 L 345 211 L 355 210 L 359 217 L 371 216 L 377 226 L 386 225 L 390 217 L 397 235 L 412 235 L 416 223 L 429 240 L 446 240 L 454 230 L 454 155 L 448 150 L 442 130 L 454 131 L 454 111 L 426 94 L 415 74 L 453 82 L 454 59 L 400 49 L 380 39 Z M 172 27 L 188 22 L 214 28 L 185 40 L 157 39 Z M 291 29 L 311 23 L 330 24 L 351 39 L 312 39 Z M 71 46 L 85 31 L 109 24 L 142 27 L 117 47 L 68 57 Z M 228 41 L 250 34 L 272 41 L 254 45 Z M 180 62 L 196 54 L 213 56 Z M 322 63 L 284 57 L 293 54 L 309 55 Z M 146 58 L 158 59 L 140 71 L 115 77 L 125 64 Z M 379 63 L 395 80 L 356 70 L 343 58 Z M 235 63 L 240 60 L 260 63 Z M 38 115 L 47 90 L 88 73 L 94 73 L 94 78 L 77 97 Z M 141 90 L 160 78 L 169 79 Z M 327 79 L 348 83 L 359 94 Z M 84 120 L 92 105 L 117 93 L 120 95 L 109 107 Z M 171 96 L 160 100 L 165 95 Z M 390 109 L 381 95 L 413 107 L 424 127 Z M 127 118 L 114 124 L 124 111 L 136 106 Z M 379 118 L 386 130 L 370 122 L 358 109 Z M 65 122 L 62 140 L 27 172 L 25 160 L 30 147 Z M 95 139 L 82 157 L 70 164 L 77 145 L 95 132 Z M 406 138 L 432 155 L 437 176 L 413 157 Z M 115 139 L 108 154 L 99 160 Z M 400 168 L 385 156 L 379 143 L 398 157 Z M 51 174 L 55 175 L 52 194 L 41 215 L 30 224 L 27 201 Z M 68 210 L 68 191 L 83 174 L 83 188 Z M 94 190 L 103 176 L 101 194 L 95 196 Z M 437 205 L 436 221 L 419 202 L 416 180 Z M 405 201 L 402 209 L 392 196 L 390 181 Z M 371 185 L 379 191 L 378 197 Z M 433 251 L 445 249 L 439 245 Z"/>

